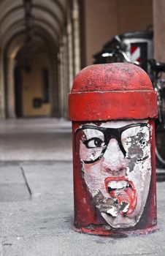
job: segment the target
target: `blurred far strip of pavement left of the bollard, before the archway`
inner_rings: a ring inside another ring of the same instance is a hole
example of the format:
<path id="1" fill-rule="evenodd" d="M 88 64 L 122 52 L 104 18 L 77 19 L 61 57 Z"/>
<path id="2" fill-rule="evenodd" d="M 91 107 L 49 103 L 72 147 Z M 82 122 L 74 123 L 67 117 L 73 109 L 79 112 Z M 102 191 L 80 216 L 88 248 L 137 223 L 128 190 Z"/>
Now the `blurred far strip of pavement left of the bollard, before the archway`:
<path id="1" fill-rule="evenodd" d="M 0 161 L 71 160 L 71 122 L 56 118 L 0 121 Z"/>

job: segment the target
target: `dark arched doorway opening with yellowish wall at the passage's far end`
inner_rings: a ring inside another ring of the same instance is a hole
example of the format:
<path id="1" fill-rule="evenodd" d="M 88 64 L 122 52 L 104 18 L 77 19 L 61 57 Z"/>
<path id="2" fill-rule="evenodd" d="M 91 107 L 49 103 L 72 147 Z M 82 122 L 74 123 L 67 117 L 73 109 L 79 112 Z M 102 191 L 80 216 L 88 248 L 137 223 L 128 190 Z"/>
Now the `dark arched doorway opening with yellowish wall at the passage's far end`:
<path id="1" fill-rule="evenodd" d="M 15 114 L 50 116 L 50 61 L 44 45 L 31 42 L 15 57 Z"/>

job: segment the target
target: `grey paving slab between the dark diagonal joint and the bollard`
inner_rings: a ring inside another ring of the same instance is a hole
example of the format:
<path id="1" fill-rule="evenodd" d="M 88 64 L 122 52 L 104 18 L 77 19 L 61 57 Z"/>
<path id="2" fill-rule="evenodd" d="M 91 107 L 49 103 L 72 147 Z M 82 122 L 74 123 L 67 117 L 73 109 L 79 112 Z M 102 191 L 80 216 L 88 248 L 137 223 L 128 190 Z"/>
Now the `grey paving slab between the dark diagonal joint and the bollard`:
<path id="1" fill-rule="evenodd" d="M 20 166 L 26 175 L 33 198 L 40 197 L 43 200 L 57 195 L 72 195 L 72 162 L 52 162 L 52 165 L 21 163 Z"/>

